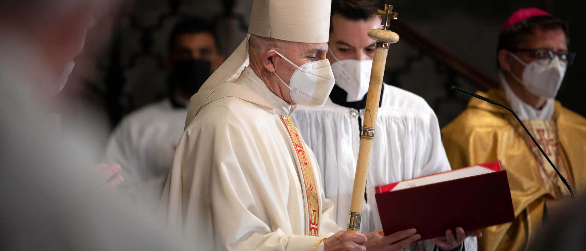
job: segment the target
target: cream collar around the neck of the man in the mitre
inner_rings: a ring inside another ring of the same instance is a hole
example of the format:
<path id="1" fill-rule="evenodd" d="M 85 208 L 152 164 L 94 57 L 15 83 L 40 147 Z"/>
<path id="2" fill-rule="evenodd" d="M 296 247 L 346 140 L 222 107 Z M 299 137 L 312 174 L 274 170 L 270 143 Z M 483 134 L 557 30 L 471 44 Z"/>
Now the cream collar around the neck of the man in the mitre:
<path id="1" fill-rule="evenodd" d="M 264 101 L 274 109 L 274 114 L 291 115 L 295 108 L 297 108 L 297 105 L 289 105 L 283 99 L 272 93 L 272 91 L 268 89 L 267 84 L 265 84 L 250 67 L 244 68 L 244 71 L 240 74 L 240 78 L 236 80 L 236 84 L 253 90 L 258 97 L 263 98 Z"/>

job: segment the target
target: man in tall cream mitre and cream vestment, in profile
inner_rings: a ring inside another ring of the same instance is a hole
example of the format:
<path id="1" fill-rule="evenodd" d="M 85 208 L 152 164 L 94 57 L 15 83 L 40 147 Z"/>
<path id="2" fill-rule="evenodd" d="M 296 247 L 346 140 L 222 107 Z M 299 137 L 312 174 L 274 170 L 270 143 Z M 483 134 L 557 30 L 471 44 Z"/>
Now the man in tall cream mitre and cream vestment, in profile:
<path id="1" fill-rule="evenodd" d="M 255 0 L 249 35 L 190 99 L 159 214 L 198 249 L 394 250 L 419 238 L 340 231 L 289 116 L 332 90 L 330 4 Z"/>

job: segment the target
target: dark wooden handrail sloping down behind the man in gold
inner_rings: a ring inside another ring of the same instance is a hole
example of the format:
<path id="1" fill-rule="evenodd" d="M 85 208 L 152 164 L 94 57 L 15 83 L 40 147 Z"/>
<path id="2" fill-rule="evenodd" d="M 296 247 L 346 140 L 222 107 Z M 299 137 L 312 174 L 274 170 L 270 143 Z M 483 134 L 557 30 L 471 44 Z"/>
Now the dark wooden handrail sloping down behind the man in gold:
<path id="1" fill-rule="evenodd" d="M 490 88 L 496 88 L 499 83 L 490 75 L 484 73 L 479 68 L 472 66 L 468 61 L 457 56 L 448 48 L 431 37 L 421 33 L 417 28 L 411 26 L 402 19 L 391 20 L 391 30 L 396 32 L 401 39 L 407 39 L 421 51 L 429 54 L 441 64 L 451 68 L 457 74 L 471 81 L 479 89 L 486 91 Z"/>

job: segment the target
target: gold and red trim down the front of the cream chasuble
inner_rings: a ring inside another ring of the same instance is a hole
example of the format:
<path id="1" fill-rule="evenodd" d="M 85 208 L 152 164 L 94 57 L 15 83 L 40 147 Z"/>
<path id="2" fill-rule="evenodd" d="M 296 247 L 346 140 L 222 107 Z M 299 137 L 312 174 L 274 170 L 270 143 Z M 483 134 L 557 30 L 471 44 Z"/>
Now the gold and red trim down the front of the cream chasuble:
<path id="1" fill-rule="evenodd" d="M 297 128 L 293 124 L 293 120 L 291 116 L 280 116 L 283 125 L 287 128 L 287 132 L 289 133 L 289 137 L 295 146 L 295 152 L 297 152 L 297 159 L 299 160 L 299 164 L 301 165 L 301 173 L 303 175 L 303 180 L 305 183 L 305 194 L 307 197 L 307 205 L 308 205 L 308 216 L 309 216 L 309 235 L 318 236 L 319 232 L 319 203 L 318 203 L 318 191 L 317 187 L 315 186 L 315 179 L 314 179 L 314 169 L 309 162 L 307 154 L 303 149 L 303 144 L 301 143 L 301 139 L 299 139 L 299 133 L 297 132 Z"/>

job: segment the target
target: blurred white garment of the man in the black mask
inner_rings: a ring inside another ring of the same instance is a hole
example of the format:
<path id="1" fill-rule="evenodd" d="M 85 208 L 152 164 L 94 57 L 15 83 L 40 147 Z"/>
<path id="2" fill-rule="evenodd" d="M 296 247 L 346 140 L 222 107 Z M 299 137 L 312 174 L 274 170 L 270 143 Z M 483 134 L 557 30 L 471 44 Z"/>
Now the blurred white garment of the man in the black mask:
<path id="1" fill-rule="evenodd" d="M 125 116 L 112 132 L 104 162 L 120 164 L 117 191 L 133 204 L 156 213 L 186 115 L 166 98 Z"/>

